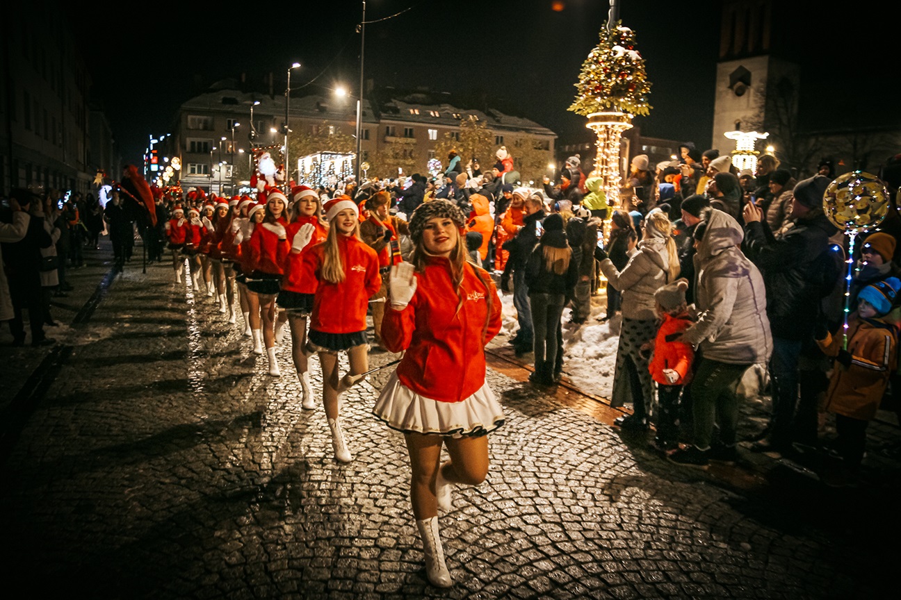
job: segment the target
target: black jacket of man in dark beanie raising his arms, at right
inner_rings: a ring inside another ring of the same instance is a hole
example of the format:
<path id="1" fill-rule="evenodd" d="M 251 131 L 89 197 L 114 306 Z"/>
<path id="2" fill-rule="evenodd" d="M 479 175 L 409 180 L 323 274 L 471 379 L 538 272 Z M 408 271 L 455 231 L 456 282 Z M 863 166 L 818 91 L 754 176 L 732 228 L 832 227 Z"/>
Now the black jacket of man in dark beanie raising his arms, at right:
<path id="1" fill-rule="evenodd" d="M 798 219 L 796 227 L 784 236 L 775 237 L 769 225 L 761 221 L 748 223 L 744 237 L 744 253 L 763 273 L 767 286 L 767 316 L 773 334 L 785 339 L 810 339 L 820 300 L 832 290 L 835 273 L 825 269 L 832 260 L 829 237 L 835 228 L 819 212 L 813 219 Z M 826 277 L 832 281 L 824 281 Z"/>

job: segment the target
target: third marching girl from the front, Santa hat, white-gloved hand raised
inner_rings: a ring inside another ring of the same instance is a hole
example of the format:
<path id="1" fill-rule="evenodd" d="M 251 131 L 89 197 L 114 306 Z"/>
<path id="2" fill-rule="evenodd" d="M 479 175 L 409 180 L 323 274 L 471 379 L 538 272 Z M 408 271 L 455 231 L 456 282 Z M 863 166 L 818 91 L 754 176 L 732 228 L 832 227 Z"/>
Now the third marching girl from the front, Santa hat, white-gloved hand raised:
<path id="1" fill-rule="evenodd" d="M 329 230 L 320 217 L 322 202 L 315 190 L 298 185 L 291 195 L 294 218 L 286 228 L 287 238 L 291 240 L 291 252 L 285 261 L 285 277 L 282 279 L 281 291 L 278 292 L 278 306 L 283 309 L 278 317 L 280 319 L 285 315 L 288 327 L 291 327 L 291 356 L 304 393 L 301 406 L 312 410 L 316 407 L 316 401 L 310 389 L 305 347 L 306 319 L 313 312 L 316 280 L 314 277 L 303 277 L 302 273 L 304 255 L 316 244 L 324 242 Z"/>

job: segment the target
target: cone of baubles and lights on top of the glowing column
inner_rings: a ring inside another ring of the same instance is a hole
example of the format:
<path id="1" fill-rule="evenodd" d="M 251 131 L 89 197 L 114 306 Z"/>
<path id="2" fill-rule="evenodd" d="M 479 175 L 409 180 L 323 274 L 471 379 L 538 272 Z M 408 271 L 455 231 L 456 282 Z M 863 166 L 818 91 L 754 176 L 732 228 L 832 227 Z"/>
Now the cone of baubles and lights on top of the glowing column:
<path id="1" fill-rule="evenodd" d="M 620 22 L 601 28 L 600 41 L 588 53 L 578 74 L 576 99 L 569 110 L 583 116 L 595 112 L 625 112 L 647 116 L 651 82 L 644 58 L 635 49 L 635 32 Z"/>

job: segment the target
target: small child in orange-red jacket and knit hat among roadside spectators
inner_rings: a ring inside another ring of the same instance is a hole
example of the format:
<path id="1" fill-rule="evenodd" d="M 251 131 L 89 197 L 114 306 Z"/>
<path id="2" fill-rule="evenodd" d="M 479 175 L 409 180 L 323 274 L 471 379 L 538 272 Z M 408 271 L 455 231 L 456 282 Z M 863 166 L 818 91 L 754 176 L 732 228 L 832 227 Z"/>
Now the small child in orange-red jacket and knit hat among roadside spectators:
<path id="1" fill-rule="evenodd" d="M 682 386 L 691 381 L 691 363 L 695 351 L 678 336 L 692 325 L 688 316 L 685 291 L 688 282 L 679 279 L 654 292 L 657 314 L 663 319 L 654 340 L 654 356 L 648 369 L 657 382 L 657 435 L 655 445 L 664 452 L 678 446 L 678 401 Z M 669 339 L 669 341 L 668 341 Z"/>

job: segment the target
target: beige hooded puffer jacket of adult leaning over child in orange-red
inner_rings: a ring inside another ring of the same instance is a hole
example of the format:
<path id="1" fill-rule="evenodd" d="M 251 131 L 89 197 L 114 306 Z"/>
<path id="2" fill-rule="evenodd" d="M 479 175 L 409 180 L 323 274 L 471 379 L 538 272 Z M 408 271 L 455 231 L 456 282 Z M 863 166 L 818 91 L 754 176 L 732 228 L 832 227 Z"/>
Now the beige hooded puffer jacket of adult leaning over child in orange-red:
<path id="1" fill-rule="evenodd" d="M 738 221 L 712 210 L 695 255 L 697 322 L 682 339 L 720 363 L 765 363 L 773 351 L 767 295 L 741 243 Z"/>

